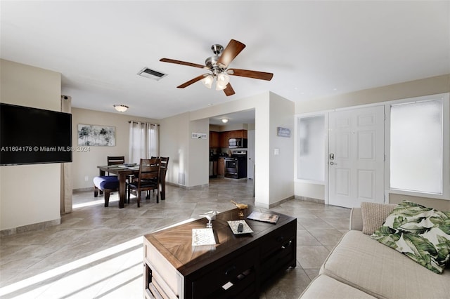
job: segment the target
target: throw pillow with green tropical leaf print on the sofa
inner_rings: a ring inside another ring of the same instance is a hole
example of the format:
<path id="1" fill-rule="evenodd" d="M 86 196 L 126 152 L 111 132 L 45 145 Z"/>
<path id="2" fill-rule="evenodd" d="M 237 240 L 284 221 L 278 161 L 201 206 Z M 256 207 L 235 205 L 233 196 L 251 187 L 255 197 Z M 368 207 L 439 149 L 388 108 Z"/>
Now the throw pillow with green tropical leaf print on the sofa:
<path id="1" fill-rule="evenodd" d="M 432 272 L 450 265 L 450 212 L 402 201 L 371 235 Z"/>

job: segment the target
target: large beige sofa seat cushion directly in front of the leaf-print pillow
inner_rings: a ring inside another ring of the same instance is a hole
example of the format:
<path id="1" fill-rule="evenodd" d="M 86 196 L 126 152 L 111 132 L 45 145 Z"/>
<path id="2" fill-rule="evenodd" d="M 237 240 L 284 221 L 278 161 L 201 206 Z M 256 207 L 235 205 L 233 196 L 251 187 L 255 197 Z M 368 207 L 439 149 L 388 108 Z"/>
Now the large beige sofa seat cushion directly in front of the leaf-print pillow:
<path id="1" fill-rule="evenodd" d="M 377 298 L 449 298 L 450 294 L 450 271 L 431 272 L 356 230 L 342 236 L 320 274 Z"/>

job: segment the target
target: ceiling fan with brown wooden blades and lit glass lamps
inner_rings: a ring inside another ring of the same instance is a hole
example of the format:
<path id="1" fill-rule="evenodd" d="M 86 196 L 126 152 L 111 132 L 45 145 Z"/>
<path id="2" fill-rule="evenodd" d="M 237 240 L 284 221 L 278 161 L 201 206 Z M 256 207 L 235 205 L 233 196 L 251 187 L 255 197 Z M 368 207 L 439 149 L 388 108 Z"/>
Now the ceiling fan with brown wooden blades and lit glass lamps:
<path id="1" fill-rule="evenodd" d="M 240 53 L 240 51 L 243 51 L 244 48 L 245 44 L 231 39 L 225 49 L 219 44 L 212 45 L 211 50 L 214 53 L 214 56 L 207 58 L 205 60 L 205 65 L 198 65 L 196 63 L 169 58 L 161 58 L 160 61 L 175 63 L 177 65 L 187 65 L 188 67 L 198 67 L 200 69 L 207 69 L 210 71 L 210 73 L 201 74 L 200 76 L 195 77 L 180 86 L 176 86 L 177 88 L 185 88 L 200 80 L 207 88 L 211 88 L 215 79 L 216 90 L 224 91 L 224 93 L 228 96 L 234 94 L 228 75 L 262 79 L 267 81 L 270 81 L 272 77 L 274 77 L 274 74 L 272 73 L 250 71 L 248 69 L 229 69 L 228 66 L 231 61 L 233 61 L 233 59 L 236 58 L 236 56 Z"/>

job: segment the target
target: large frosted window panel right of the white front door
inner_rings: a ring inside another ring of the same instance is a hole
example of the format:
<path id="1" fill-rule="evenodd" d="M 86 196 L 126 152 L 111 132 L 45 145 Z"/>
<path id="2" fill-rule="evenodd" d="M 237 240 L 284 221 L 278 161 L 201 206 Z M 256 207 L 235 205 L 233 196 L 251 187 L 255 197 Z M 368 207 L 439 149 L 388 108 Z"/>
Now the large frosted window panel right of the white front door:
<path id="1" fill-rule="evenodd" d="M 442 194 L 442 101 L 391 106 L 390 187 Z"/>

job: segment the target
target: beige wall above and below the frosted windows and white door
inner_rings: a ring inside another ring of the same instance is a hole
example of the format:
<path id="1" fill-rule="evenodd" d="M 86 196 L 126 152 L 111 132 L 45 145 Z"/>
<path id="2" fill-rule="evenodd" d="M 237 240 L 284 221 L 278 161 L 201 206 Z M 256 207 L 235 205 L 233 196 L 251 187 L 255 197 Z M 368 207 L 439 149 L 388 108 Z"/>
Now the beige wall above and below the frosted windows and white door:
<path id="1" fill-rule="evenodd" d="M 450 74 L 431 77 L 415 81 L 393 84 L 379 88 L 356 91 L 336 95 L 329 98 L 310 100 L 307 102 L 297 102 L 295 105 L 295 114 L 310 112 L 320 112 L 329 109 L 338 109 L 343 107 L 354 107 L 357 105 L 367 105 L 377 102 L 387 102 L 390 100 L 401 100 L 404 98 L 414 98 L 423 95 L 433 95 L 437 93 L 448 93 L 450 91 Z M 448 169 L 446 171 L 449 171 Z M 312 197 L 314 199 L 325 199 L 325 187 L 323 185 L 308 184 L 305 182 L 295 182 L 295 196 Z M 397 203 L 405 196 L 399 194 L 390 194 L 389 201 Z M 450 211 L 450 201 L 441 199 L 428 199 L 422 197 L 409 197 L 419 204 L 425 204 L 433 208 L 439 208 Z"/>

